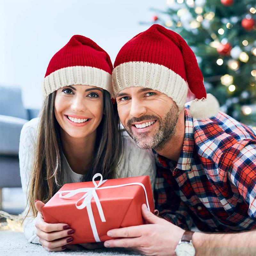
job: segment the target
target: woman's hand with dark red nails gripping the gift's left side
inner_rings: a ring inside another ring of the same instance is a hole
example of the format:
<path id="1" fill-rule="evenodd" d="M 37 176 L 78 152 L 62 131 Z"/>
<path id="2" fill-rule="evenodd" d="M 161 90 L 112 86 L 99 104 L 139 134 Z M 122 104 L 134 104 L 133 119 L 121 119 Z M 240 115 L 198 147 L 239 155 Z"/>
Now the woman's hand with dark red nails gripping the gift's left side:
<path id="1" fill-rule="evenodd" d="M 50 252 L 60 252 L 65 250 L 67 245 L 73 241 L 73 238 L 70 235 L 74 234 L 75 231 L 65 223 L 46 223 L 41 212 L 44 203 L 36 201 L 35 206 L 38 211 L 35 226 L 39 242 L 45 250 Z"/>

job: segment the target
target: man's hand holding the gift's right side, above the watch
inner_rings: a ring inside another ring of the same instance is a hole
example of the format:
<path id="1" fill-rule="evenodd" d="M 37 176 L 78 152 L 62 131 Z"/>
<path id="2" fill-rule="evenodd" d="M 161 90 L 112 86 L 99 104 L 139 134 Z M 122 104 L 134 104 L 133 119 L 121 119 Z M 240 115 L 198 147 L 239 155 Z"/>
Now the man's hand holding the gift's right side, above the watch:
<path id="1" fill-rule="evenodd" d="M 109 230 L 111 237 L 124 237 L 105 241 L 105 247 L 125 247 L 144 255 L 175 255 L 176 245 L 185 230 L 155 216 L 142 204 L 142 216 L 150 224 Z"/>

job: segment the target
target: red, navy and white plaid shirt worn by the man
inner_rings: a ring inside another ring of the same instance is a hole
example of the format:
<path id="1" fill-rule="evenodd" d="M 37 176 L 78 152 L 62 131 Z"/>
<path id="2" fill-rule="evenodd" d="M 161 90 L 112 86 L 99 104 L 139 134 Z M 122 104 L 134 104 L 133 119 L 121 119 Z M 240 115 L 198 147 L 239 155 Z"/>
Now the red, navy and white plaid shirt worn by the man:
<path id="1" fill-rule="evenodd" d="M 206 232 L 256 228 L 256 133 L 222 112 L 198 120 L 188 111 L 178 162 L 154 151 L 159 215 Z"/>

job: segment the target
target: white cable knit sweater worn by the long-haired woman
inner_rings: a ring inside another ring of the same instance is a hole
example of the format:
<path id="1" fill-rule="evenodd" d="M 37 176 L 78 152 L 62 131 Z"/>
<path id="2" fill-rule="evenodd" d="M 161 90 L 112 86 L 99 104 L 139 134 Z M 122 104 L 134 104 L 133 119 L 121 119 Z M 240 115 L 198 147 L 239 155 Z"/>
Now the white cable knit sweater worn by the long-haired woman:
<path id="1" fill-rule="evenodd" d="M 38 123 L 39 118 L 30 120 L 24 124 L 20 133 L 20 177 L 22 190 L 26 198 L 28 196 L 29 177 L 36 149 Z M 153 152 L 138 148 L 127 133 L 124 134 L 123 151 L 123 157 L 116 168 L 115 178 L 149 175 L 152 188 L 154 188 L 156 165 Z M 82 174 L 77 174 L 71 170 L 64 154 L 61 162 L 61 171 L 64 172 L 64 183 L 80 182 L 83 178 Z M 28 206 L 24 210 L 24 215 L 27 211 Z M 28 239 L 28 242 L 40 244 L 35 234 L 36 218 L 31 217 L 31 214 L 29 215 L 23 222 L 25 237 Z"/>

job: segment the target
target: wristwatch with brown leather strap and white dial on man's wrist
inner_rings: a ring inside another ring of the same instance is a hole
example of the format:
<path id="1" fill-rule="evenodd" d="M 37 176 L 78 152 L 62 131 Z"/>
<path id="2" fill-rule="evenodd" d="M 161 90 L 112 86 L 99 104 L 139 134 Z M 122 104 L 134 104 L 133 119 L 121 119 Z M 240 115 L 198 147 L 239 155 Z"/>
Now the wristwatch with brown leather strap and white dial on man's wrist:
<path id="1" fill-rule="evenodd" d="M 175 248 L 175 253 L 177 256 L 195 256 L 196 250 L 192 244 L 192 236 L 194 231 L 185 231 L 180 239 L 179 244 Z"/>

